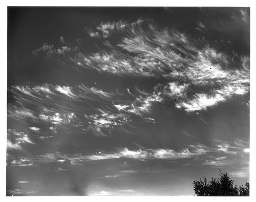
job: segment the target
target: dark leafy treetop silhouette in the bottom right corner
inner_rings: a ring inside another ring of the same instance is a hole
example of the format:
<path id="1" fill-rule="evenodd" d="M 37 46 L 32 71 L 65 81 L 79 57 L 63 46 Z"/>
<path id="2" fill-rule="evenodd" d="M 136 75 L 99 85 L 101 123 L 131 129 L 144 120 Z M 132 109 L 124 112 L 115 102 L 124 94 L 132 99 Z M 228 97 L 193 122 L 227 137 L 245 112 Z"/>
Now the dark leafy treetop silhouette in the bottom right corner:
<path id="1" fill-rule="evenodd" d="M 220 170 L 220 169 L 219 169 Z M 194 191 L 197 196 L 249 196 L 249 183 L 242 185 L 239 188 L 233 187 L 233 180 L 229 178 L 226 172 L 221 172 L 218 179 L 211 177 L 211 181 L 207 183 L 206 178 L 204 181 L 194 181 Z"/>

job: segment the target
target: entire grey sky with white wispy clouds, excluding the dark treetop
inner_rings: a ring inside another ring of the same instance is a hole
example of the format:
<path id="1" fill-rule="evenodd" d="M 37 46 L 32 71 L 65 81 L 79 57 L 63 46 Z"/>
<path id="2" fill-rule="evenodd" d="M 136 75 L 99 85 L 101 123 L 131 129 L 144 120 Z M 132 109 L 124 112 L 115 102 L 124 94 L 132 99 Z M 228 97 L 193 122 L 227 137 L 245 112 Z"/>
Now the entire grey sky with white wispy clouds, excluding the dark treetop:
<path id="1" fill-rule="evenodd" d="M 249 8 L 8 8 L 6 194 L 249 182 Z"/>

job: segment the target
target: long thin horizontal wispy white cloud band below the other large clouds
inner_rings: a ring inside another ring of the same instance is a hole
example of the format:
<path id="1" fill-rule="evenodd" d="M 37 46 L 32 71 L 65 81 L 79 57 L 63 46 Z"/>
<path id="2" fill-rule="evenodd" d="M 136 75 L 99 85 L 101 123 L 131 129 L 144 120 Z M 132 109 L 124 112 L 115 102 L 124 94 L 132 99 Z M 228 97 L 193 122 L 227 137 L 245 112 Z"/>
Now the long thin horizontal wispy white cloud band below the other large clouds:
<path id="1" fill-rule="evenodd" d="M 69 162 L 70 164 L 81 164 L 88 161 L 102 161 L 102 160 L 112 160 L 112 159 L 135 159 L 139 161 L 163 159 L 163 160 L 176 160 L 176 159 L 186 159 L 192 158 L 194 156 L 199 156 L 206 154 L 212 150 L 209 150 L 203 145 L 189 145 L 189 147 L 184 148 L 180 151 L 173 149 L 138 149 L 129 150 L 127 148 L 118 149 L 117 152 L 104 153 L 97 152 L 96 154 L 82 155 L 79 154 L 62 154 L 60 152 L 47 153 L 42 155 L 37 155 L 33 158 L 20 159 L 9 161 L 9 165 L 16 166 L 32 166 L 51 162 Z"/>

